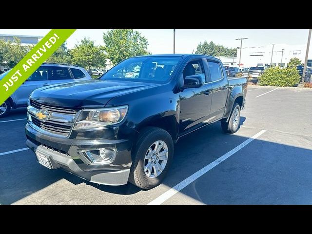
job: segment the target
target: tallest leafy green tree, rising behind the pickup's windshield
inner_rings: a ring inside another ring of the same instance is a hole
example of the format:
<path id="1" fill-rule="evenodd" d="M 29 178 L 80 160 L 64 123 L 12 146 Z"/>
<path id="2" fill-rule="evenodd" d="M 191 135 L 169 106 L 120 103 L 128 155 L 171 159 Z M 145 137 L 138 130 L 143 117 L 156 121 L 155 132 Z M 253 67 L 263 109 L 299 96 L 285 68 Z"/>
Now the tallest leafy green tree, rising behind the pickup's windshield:
<path id="1" fill-rule="evenodd" d="M 148 41 L 133 29 L 113 29 L 103 33 L 104 51 L 108 59 L 116 64 L 133 56 L 148 55 Z"/>

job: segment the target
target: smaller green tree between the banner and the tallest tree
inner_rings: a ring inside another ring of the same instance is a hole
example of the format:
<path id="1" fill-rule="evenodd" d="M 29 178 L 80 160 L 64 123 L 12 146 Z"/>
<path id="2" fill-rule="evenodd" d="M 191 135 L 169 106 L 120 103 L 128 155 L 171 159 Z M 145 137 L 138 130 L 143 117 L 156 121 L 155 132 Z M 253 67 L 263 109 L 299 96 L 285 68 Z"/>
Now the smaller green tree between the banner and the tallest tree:
<path id="1" fill-rule="evenodd" d="M 102 46 L 95 46 L 91 39 L 82 39 L 80 44 L 76 44 L 70 51 L 72 62 L 84 68 L 104 67 L 105 54 Z"/>

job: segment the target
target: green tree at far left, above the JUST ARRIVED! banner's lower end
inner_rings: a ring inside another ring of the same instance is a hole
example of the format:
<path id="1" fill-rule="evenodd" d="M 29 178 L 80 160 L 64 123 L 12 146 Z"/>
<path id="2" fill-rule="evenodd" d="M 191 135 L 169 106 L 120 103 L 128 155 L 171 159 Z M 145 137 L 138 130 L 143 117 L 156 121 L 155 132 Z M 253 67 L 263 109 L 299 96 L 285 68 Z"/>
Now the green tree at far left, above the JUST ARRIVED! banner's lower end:
<path id="1" fill-rule="evenodd" d="M 20 39 L 11 40 L 0 39 L 0 63 L 5 63 L 8 67 L 14 67 L 27 54 L 30 47 L 22 46 Z"/>

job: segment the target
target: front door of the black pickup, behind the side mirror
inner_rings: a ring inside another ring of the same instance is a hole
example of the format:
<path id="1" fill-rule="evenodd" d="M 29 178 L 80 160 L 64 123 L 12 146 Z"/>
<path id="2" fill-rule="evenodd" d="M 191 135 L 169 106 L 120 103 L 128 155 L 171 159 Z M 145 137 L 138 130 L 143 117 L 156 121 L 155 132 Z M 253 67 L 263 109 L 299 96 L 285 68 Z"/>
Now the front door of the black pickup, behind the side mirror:
<path id="1" fill-rule="evenodd" d="M 199 88 L 188 88 L 180 92 L 180 135 L 192 131 L 209 117 L 212 101 L 211 84 L 206 83 L 208 77 L 202 64 L 202 59 L 191 60 L 182 72 L 184 82 L 188 76 L 201 75 L 204 84 Z"/>

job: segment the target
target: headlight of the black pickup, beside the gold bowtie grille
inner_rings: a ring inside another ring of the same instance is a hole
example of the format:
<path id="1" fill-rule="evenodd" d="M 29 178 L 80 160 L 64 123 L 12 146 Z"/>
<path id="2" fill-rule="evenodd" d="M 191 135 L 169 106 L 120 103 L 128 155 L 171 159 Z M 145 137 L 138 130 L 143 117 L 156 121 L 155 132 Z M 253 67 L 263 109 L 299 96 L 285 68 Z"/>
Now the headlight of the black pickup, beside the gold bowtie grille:
<path id="1" fill-rule="evenodd" d="M 128 106 L 82 110 L 78 116 L 74 130 L 93 129 L 120 123 L 126 116 L 127 111 Z"/>

